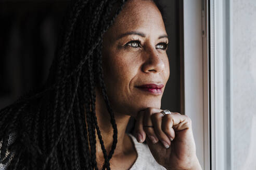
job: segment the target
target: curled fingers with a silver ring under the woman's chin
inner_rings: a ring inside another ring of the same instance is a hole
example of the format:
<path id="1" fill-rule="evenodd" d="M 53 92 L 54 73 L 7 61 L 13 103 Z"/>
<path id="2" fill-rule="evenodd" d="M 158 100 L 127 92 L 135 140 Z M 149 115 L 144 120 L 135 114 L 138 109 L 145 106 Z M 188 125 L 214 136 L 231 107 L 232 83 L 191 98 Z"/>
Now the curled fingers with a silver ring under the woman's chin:
<path id="1" fill-rule="evenodd" d="M 144 142 L 147 136 L 153 144 L 160 140 L 165 148 L 169 148 L 175 138 L 175 131 L 191 127 L 191 120 L 187 116 L 177 112 L 163 115 L 161 111 L 161 109 L 147 108 L 138 113 L 135 124 L 138 142 Z"/>

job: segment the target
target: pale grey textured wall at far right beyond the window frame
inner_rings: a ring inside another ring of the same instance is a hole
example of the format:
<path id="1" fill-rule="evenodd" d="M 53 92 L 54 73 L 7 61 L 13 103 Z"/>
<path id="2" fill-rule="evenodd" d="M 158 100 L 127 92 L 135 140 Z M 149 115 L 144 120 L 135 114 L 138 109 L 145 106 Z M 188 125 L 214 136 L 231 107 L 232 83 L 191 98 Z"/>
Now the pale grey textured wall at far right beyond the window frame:
<path id="1" fill-rule="evenodd" d="M 233 168 L 256 169 L 256 1 L 233 1 Z"/>

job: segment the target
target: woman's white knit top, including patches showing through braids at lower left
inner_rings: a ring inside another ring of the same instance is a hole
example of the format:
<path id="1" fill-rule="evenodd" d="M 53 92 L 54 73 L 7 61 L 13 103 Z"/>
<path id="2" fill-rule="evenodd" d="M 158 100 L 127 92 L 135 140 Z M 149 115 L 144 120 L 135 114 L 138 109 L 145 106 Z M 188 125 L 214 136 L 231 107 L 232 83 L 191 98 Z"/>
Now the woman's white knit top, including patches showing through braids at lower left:
<path id="1" fill-rule="evenodd" d="M 132 138 L 138 156 L 130 170 L 166 170 L 163 166 L 159 165 L 157 161 L 153 158 L 147 145 L 138 143 L 133 135 L 129 134 L 129 136 Z M 14 142 L 15 137 L 15 134 L 10 135 L 8 145 Z M 2 141 L 0 141 L 0 148 L 1 146 Z M 8 154 L 11 154 L 10 160 L 5 165 L 0 163 L 0 170 L 7 169 L 7 166 L 10 163 L 14 153 L 7 152 L 6 157 L 8 156 Z"/>

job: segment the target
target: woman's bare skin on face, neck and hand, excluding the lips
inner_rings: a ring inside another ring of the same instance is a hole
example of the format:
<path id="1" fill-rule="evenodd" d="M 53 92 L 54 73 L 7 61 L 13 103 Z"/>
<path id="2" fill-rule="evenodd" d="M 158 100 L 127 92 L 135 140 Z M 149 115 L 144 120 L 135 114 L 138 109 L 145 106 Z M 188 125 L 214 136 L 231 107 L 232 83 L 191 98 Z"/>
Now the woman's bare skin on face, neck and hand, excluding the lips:
<path id="1" fill-rule="evenodd" d="M 133 142 L 125 134 L 131 116 L 136 118 L 137 140 L 140 143 L 147 140 L 149 149 L 159 164 L 168 170 L 201 169 L 196 156 L 191 120 L 178 113 L 163 116 L 160 109 L 162 94 L 156 95 L 136 88 L 149 83 L 163 84 L 165 87 L 170 75 L 166 44 L 168 38 L 161 13 L 149 0 L 127 1 L 104 35 L 104 80 L 118 130 L 117 147 L 110 160 L 111 169 L 130 169 L 137 158 Z M 113 129 L 98 88 L 96 117 L 104 145 L 109 151 Z M 153 128 L 144 128 L 144 125 L 153 125 Z M 150 136 L 155 137 L 156 142 Z M 96 138 L 99 169 L 105 161 L 100 148 Z"/>

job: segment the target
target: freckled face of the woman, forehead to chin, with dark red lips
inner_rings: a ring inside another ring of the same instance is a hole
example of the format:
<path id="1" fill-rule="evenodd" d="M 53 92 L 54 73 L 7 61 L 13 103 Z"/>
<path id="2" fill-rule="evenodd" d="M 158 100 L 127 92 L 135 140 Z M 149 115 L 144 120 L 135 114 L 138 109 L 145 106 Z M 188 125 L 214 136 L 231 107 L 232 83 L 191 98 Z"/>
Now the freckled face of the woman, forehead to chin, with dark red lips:
<path id="1" fill-rule="evenodd" d="M 127 1 L 103 39 L 104 80 L 114 112 L 136 116 L 147 107 L 161 107 L 170 74 L 166 44 L 157 6 Z"/>

